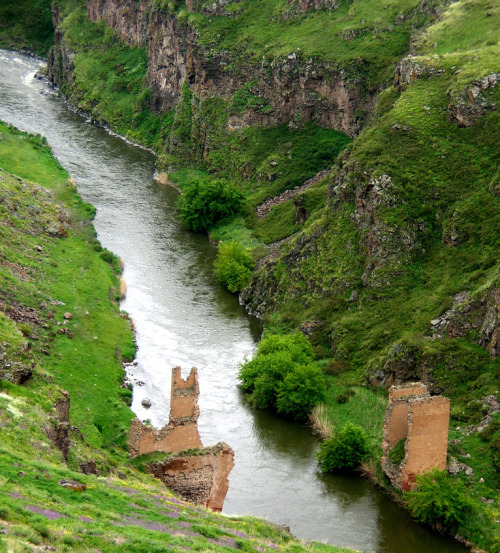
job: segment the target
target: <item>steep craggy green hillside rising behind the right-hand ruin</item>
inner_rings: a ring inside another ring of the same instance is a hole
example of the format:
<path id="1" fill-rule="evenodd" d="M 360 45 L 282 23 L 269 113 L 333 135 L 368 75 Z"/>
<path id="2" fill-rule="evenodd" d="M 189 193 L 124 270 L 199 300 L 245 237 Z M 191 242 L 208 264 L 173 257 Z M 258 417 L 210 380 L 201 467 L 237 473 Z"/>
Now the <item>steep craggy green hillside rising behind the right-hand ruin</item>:
<path id="1" fill-rule="evenodd" d="M 307 329 L 330 359 L 326 424 L 342 425 L 335 396 L 362 382 L 424 380 L 451 398 L 449 454 L 474 469 L 458 478 L 481 513 L 460 533 L 489 551 L 500 546 L 498 414 L 485 418 L 500 377 L 485 322 L 498 328 L 488 313 L 499 286 L 500 86 L 481 83 L 496 81 L 499 21 L 492 2 L 455 2 L 415 34 L 376 120 L 329 177 L 324 210 L 244 291 L 268 329 Z M 457 111 L 479 115 L 464 126 Z M 359 424 L 370 431 L 374 419 L 367 410 Z"/>

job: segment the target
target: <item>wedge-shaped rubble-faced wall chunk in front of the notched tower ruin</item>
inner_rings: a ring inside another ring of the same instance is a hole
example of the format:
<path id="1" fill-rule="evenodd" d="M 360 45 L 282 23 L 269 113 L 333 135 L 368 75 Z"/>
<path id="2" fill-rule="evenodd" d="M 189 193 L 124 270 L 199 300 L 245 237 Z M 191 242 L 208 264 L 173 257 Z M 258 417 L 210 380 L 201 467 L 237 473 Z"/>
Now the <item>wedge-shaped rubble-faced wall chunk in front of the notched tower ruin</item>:
<path id="1" fill-rule="evenodd" d="M 234 467 L 234 452 L 225 443 L 200 449 L 195 455 L 182 453 L 153 463 L 151 473 L 183 499 L 222 511 Z"/>

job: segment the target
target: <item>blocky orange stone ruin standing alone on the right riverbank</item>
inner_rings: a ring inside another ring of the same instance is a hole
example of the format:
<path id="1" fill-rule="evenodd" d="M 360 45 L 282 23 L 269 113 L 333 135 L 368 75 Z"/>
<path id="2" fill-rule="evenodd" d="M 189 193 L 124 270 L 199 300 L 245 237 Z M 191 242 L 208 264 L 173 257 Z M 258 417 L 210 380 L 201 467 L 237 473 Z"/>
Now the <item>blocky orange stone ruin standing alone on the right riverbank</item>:
<path id="1" fill-rule="evenodd" d="M 381 465 L 394 487 L 411 490 L 419 474 L 434 468 L 446 469 L 449 418 L 450 400 L 430 396 L 425 384 L 390 388 Z M 389 454 L 404 439 L 404 458 L 398 465 Z"/>

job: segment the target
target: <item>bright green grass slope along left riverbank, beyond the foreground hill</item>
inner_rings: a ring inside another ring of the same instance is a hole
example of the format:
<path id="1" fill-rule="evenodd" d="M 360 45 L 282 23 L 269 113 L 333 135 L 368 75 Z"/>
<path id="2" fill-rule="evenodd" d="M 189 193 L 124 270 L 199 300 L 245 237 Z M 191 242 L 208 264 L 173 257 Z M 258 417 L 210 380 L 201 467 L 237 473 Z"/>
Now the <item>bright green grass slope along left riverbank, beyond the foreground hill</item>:
<path id="1" fill-rule="evenodd" d="M 0 167 L 29 179 L 19 182 L 3 173 L 3 193 L 9 198 L 7 225 L 0 229 L 3 255 L 31 276 L 7 285 L 12 270 L 2 267 L 1 299 L 6 305 L 35 309 L 47 326 L 31 325 L 37 337 L 34 355 L 38 362 L 46 357 L 44 369 L 69 391 L 73 421 L 87 439 L 96 445 L 121 439 L 123 445 L 131 413 L 120 399 L 117 384 L 123 377 L 122 353 L 133 356 L 134 348 L 129 325 L 118 312 L 118 277 L 96 251 L 100 246 L 90 224 L 93 208 L 80 200 L 68 174 L 39 138 L 5 125 L 0 132 Z M 29 184 L 35 180 L 39 185 Z M 43 221 L 38 227 L 29 223 L 33 212 Z M 61 225 L 66 237 L 51 237 L 45 231 Z M 72 314 L 68 324 L 64 324 L 65 312 Z M 73 339 L 57 332 L 65 327 Z M 110 406 L 113 419 L 99 422 L 102 415 L 98 414 Z"/>

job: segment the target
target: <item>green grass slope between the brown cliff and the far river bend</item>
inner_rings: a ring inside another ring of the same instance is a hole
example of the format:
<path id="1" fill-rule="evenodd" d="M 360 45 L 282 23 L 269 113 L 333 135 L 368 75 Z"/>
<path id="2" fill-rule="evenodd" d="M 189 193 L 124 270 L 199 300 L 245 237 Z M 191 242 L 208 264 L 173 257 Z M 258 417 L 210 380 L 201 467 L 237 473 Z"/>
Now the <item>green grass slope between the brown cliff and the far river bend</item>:
<path id="1" fill-rule="evenodd" d="M 146 49 L 125 45 L 103 22 L 90 22 L 78 2 L 62 4 L 67 13 L 62 23 L 64 43 L 76 52 L 74 78 L 61 84 L 63 93 L 95 121 L 159 152 L 160 170 L 166 170 L 181 190 L 207 173 L 237 184 L 248 198 L 245 224 L 250 230 L 254 207 L 330 166 L 350 142 L 343 133 L 313 123 L 298 129 L 279 125 L 229 132 L 229 111 L 255 100 L 248 87 L 229 104 L 220 98 L 200 100 L 185 85 L 175 110 L 154 112 L 145 84 Z M 207 151 L 206 144 L 210 145 Z M 310 199 L 316 209 L 323 198 L 310 195 Z M 271 217 L 256 225 L 253 236 L 240 229 L 237 234 L 245 245 L 272 242 L 295 232 L 290 224 L 293 206 L 282 209 L 288 210 L 286 225 L 282 217 L 277 221 Z M 222 234 L 226 237 L 230 230 L 226 227 Z"/>

